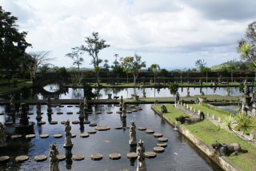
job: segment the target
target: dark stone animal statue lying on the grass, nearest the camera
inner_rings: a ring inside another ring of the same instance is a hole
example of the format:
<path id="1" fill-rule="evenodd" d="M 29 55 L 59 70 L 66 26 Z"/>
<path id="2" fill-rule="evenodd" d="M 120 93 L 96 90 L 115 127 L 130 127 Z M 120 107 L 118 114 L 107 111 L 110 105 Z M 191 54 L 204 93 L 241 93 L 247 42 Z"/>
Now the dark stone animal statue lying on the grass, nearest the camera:
<path id="1" fill-rule="evenodd" d="M 238 143 L 221 144 L 216 141 L 211 144 L 211 146 L 220 154 L 220 156 L 230 154 L 237 155 L 242 151 L 241 146 Z"/>

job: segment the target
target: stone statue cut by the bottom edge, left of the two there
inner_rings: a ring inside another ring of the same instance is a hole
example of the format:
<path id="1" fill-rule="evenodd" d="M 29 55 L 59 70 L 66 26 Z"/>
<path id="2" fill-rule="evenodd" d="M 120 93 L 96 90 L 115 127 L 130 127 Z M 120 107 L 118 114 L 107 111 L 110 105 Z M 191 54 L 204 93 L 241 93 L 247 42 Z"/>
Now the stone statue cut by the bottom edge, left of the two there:
<path id="1" fill-rule="evenodd" d="M 58 155 L 57 145 L 53 142 L 50 145 L 50 153 L 49 153 L 49 157 L 50 157 L 50 171 L 59 171 L 57 155 Z"/>

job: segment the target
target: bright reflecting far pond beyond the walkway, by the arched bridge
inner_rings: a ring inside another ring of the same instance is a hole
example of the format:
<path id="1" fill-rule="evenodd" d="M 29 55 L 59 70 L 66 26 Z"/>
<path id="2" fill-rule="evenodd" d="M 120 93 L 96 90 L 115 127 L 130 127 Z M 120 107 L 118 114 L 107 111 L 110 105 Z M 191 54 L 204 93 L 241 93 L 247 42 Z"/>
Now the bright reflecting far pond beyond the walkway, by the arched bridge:
<path id="1" fill-rule="evenodd" d="M 134 90 L 135 89 L 135 90 Z M 254 89 L 252 87 L 249 88 L 250 92 Z M 112 97 L 121 95 L 124 98 L 130 98 L 131 94 L 134 91 L 138 94 L 139 97 L 142 97 L 142 89 L 141 88 L 102 88 L 102 89 L 93 89 L 93 93 L 98 94 L 98 99 L 106 99 L 108 97 L 108 93 L 112 93 Z M 206 95 L 220 95 L 226 96 L 226 87 L 190 87 L 190 96 L 199 95 L 201 92 Z M 154 89 L 154 88 L 146 88 L 146 97 L 174 97 L 173 94 L 170 94 L 170 90 L 168 88 L 162 89 Z M 181 97 L 186 96 L 186 88 L 178 88 L 178 93 Z M 238 87 L 230 87 L 230 96 L 241 96 L 243 93 L 239 92 Z M 59 89 L 58 85 L 46 85 L 43 89 L 27 89 L 26 92 L 16 92 L 10 95 L 0 97 L 1 99 L 10 99 L 11 96 L 15 97 L 15 99 L 46 99 L 46 97 L 51 98 L 59 98 L 59 99 L 82 99 L 84 98 L 84 91 L 82 88 L 62 88 Z"/>

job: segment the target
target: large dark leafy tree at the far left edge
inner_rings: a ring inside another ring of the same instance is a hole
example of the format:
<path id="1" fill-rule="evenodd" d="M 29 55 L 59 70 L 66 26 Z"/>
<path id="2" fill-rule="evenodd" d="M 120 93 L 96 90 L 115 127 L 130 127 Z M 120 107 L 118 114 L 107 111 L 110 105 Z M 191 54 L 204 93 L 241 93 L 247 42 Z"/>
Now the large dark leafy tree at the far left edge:
<path id="1" fill-rule="evenodd" d="M 18 58 L 22 57 L 30 43 L 26 42 L 27 32 L 19 32 L 15 22 L 17 17 L 0 8 L 0 68 L 5 69 L 10 82 L 10 70 L 19 66 Z"/>

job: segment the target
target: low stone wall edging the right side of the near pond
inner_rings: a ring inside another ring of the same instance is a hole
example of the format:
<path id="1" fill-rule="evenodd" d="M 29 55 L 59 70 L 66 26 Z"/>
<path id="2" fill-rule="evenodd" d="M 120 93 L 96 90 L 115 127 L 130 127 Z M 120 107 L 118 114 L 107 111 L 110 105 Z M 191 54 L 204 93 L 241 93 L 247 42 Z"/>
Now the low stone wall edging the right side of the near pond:
<path id="1" fill-rule="evenodd" d="M 184 107 L 182 107 L 182 105 L 176 105 L 176 107 L 181 109 L 183 108 L 182 111 L 184 110 Z M 170 125 L 175 126 L 174 121 L 171 121 L 168 117 L 163 115 L 162 112 L 158 111 L 158 109 L 154 107 L 154 105 L 151 105 L 151 109 L 153 109 L 155 113 L 158 113 L 159 116 L 163 117 L 168 123 L 170 123 Z M 222 169 L 226 171 L 242 171 L 241 169 L 238 168 L 238 166 L 234 165 L 226 157 L 219 157 L 218 155 L 216 155 L 214 153 L 214 149 L 210 145 L 207 145 L 205 141 L 202 141 L 200 138 L 196 137 L 193 133 L 190 132 L 189 129 L 186 129 L 185 126 L 176 125 L 176 128 L 186 138 L 192 141 L 194 145 L 198 147 L 198 149 L 200 149 L 203 153 L 210 157 L 210 159 L 213 160 L 217 165 L 222 167 Z"/>

